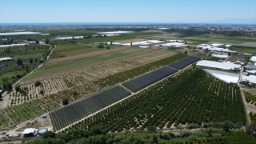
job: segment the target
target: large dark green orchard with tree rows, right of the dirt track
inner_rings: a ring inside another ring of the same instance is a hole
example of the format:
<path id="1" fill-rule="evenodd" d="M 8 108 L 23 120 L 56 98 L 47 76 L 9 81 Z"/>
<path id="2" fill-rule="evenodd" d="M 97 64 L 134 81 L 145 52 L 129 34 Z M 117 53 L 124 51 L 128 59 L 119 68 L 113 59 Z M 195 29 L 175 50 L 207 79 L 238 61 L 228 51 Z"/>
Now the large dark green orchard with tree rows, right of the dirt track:
<path id="1" fill-rule="evenodd" d="M 223 122 L 246 124 L 242 98 L 238 87 L 190 68 L 173 78 L 166 78 L 130 98 L 66 128 L 121 132 L 139 127 L 158 129 L 186 123 Z M 240 125 L 239 124 L 239 125 Z"/>

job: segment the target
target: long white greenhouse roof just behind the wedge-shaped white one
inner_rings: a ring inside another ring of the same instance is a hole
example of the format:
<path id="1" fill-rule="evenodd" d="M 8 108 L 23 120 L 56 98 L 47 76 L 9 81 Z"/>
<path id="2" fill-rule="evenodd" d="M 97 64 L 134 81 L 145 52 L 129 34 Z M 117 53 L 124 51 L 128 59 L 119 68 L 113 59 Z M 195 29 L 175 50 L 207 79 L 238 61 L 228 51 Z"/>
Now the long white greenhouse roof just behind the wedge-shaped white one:
<path id="1" fill-rule="evenodd" d="M 197 66 L 214 67 L 222 70 L 237 70 L 240 69 L 241 65 L 236 65 L 232 62 L 214 62 L 202 60 L 197 63 Z"/>

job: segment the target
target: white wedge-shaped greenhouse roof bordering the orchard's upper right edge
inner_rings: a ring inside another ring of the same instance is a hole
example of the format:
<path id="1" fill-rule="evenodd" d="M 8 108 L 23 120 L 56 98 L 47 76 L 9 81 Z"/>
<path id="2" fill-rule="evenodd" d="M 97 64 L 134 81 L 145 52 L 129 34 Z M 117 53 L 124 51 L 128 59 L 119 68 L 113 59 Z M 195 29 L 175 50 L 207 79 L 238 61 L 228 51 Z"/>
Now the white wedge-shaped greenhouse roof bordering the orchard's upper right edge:
<path id="1" fill-rule="evenodd" d="M 218 70 L 208 70 L 208 69 L 203 69 L 203 70 L 210 73 L 210 75 L 212 75 L 213 77 L 218 78 L 227 83 L 230 83 L 230 82 L 237 83 L 240 78 L 239 74 L 227 73 L 227 72 L 218 71 Z"/>

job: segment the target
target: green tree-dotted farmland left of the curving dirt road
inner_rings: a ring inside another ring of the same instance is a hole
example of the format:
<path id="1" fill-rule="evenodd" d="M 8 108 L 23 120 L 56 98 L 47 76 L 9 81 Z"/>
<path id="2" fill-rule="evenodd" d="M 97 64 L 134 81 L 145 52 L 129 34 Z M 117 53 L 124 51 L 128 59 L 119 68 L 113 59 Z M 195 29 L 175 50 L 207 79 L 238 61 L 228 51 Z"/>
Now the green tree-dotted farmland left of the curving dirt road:
<path id="1" fill-rule="evenodd" d="M 11 84 L 18 78 L 28 74 L 31 70 L 34 70 L 34 68 L 46 60 L 46 57 L 50 54 L 50 47 L 28 45 L 0 48 L 0 58 L 13 58 L 13 60 L 0 62 L 2 65 L 0 69 L 0 86 L 5 87 L 7 83 Z M 22 63 L 17 63 L 18 58 L 22 60 Z"/>

